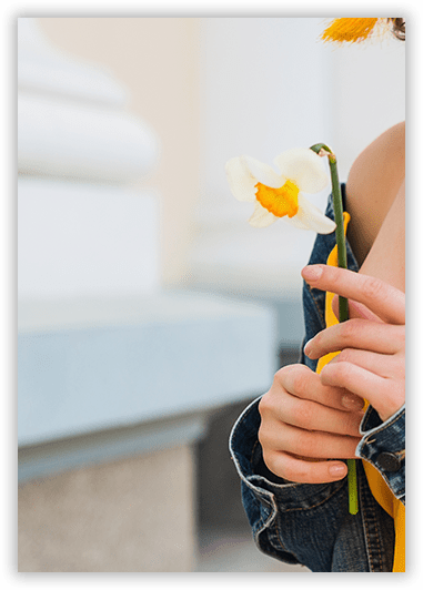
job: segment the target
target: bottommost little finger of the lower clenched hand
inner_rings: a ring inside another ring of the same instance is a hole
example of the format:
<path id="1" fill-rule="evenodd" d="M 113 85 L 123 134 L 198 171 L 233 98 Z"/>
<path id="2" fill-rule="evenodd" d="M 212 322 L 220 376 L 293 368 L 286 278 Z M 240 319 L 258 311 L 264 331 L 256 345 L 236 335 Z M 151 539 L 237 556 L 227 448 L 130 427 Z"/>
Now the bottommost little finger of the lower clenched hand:
<path id="1" fill-rule="evenodd" d="M 343 479 L 348 467 L 342 461 L 305 461 L 288 452 L 273 452 L 264 457 L 268 468 L 276 476 L 298 484 L 328 484 Z"/>

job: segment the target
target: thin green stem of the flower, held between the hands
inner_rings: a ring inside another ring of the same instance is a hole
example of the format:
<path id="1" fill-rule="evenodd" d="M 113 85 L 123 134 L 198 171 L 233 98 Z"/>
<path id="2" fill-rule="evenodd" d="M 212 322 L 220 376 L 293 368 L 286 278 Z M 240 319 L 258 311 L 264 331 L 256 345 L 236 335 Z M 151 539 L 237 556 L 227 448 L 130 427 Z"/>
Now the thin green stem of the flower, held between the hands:
<path id="1" fill-rule="evenodd" d="M 348 268 L 346 262 L 346 244 L 344 233 L 344 216 L 342 207 L 342 194 L 340 186 L 340 179 L 338 175 L 336 156 L 328 145 L 324 143 L 316 143 L 310 148 L 319 155 L 328 155 L 329 167 L 331 170 L 332 180 L 332 195 L 333 195 L 333 208 L 335 213 L 336 223 L 336 245 L 338 245 L 338 266 L 340 268 Z M 339 312 L 340 322 L 346 322 L 349 319 L 349 301 L 345 297 L 339 298 Z M 359 511 L 359 494 L 356 485 L 356 464 L 355 459 L 348 459 L 346 465 L 349 468 L 349 511 L 351 515 L 356 515 Z"/>

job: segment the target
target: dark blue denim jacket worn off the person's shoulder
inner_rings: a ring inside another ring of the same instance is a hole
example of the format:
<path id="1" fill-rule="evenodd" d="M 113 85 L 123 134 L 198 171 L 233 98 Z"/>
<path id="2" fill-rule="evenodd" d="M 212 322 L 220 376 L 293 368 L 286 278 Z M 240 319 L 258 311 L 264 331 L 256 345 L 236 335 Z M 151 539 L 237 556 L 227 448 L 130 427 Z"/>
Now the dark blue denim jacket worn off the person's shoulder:
<path id="1" fill-rule="evenodd" d="M 342 185 L 345 201 L 345 185 Z M 326 215 L 333 214 L 332 197 Z M 335 245 L 335 234 L 319 234 L 309 264 L 325 263 Z M 348 244 L 349 268 L 359 266 Z M 304 343 L 325 328 L 325 294 L 304 283 Z M 315 370 L 316 360 L 301 353 L 300 363 Z M 241 478 L 242 502 L 256 546 L 286 563 L 302 563 L 313 572 L 392 572 L 393 519 L 373 498 L 362 461 L 356 461 L 360 511 L 348 509 L 348 481 L 294 484 L 273 475 L 264 465 L 258 440 L 259 399 L 245 408 L 230 437 L 230 451 Z M 405 406 L 385 423 L 370 406 L 361 423 L 362 439 L 356 455 L 379 469 L 395 497 L 405 503 L 405 458 L 400 468 L 379 462 L 381 454 L 405 448 Z M 387 467 L 387 468 L 386 468 Z"/>

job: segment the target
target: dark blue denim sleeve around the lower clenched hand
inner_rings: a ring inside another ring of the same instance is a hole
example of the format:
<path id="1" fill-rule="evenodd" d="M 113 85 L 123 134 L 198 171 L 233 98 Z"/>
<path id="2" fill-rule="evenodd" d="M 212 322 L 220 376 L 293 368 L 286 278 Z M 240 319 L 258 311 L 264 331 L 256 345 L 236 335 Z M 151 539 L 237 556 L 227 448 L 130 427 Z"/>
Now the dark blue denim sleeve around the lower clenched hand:
<path id="1" fill-rule="evenodd" d="M 367 572 L 362 519 L 352 517 L 346 509 L 346 479 L 308 485 L 271 474 L 258 440 L 259 401 L 260 398 L 245 408 L 230 438 L 242 502 L 258 548 L 314 572 Z M 362 469 L 359 478 L 364 482 Z M 374 509 L 377 512 L 377 507 Z"/>

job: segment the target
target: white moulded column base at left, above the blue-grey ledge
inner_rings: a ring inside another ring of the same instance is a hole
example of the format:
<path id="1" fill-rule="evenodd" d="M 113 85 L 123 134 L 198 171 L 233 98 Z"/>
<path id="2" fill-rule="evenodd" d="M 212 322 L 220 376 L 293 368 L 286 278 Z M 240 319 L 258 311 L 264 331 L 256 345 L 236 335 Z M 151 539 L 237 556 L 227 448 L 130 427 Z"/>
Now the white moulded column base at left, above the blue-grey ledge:
<path id="1" fill-rule="evenodd" d="M 19 298 L 159 288 L 158 196 L 134 189 L 158 155 L 128 91 L 18 19 Z"/>

